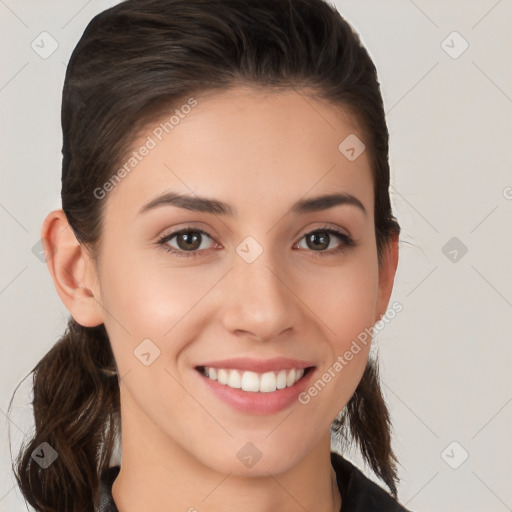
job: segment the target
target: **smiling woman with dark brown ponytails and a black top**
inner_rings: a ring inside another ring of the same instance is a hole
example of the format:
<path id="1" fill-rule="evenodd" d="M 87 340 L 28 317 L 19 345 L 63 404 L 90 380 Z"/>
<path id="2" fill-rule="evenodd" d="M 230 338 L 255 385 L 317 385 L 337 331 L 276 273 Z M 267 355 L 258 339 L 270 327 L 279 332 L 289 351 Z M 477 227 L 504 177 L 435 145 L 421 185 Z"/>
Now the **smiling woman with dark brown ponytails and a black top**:
<path id="1" fill-rule="evenodd" d="M 62 127 L 41 234 L 71 316 L 33 370 L 31 506 L 406 510 L 362 335 L 400 227 L 347 22 L 323 0 L 127 0 L 75 48 Z"/>

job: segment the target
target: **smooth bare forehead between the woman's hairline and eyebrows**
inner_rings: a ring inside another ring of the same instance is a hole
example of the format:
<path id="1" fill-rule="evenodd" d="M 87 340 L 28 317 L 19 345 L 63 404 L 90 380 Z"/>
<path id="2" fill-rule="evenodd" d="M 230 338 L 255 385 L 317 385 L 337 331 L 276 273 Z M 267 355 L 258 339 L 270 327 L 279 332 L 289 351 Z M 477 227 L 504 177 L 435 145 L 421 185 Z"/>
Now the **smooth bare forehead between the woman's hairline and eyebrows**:
<path id="1" fill-rule="evenodd" d="M 108 193 L 107 210 L 135 218 L 168 190 L 225 200 L 237 211 L 346 191 L 371 209 L 369 155 L 347 110 L 297 91 L 254 87 L 192 100 L 145 127 L 121 164 L 126 172 Z M 360 144 L 356 159 L 347 158 L 345 141 Z"/>

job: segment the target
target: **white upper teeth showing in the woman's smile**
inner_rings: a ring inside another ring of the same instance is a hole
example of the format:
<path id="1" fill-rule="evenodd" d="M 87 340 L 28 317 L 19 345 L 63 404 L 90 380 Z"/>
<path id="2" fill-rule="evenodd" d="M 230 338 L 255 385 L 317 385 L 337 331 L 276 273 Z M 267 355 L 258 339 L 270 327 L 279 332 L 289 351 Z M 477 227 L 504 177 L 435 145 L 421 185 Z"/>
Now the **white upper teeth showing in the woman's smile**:
<path id="1" fill-rule="evenodd" d="M 271 393 L 277 389 L 293 386 L 304 375 L 304 369 L 280 370 L 279 372 L 241 372 L 224 368 L 205 368 L 204 374 L 219 384 L 244 391 Z"/>

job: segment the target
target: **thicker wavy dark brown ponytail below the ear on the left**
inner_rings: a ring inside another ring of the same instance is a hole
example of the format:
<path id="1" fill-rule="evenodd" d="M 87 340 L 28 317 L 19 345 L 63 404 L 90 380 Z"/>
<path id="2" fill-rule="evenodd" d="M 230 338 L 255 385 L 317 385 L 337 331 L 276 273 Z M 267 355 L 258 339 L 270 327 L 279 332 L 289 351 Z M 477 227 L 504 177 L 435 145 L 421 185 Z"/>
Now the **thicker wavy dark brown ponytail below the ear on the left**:
<path id="1" fill-rule="evenodd" d="M 39 512 L 91 512 L 119 427 L 119 383 L 104 325 L 83 327 L 70 317 L 30 373 L 35 433 L 15 463 L 18 485 Z"/>

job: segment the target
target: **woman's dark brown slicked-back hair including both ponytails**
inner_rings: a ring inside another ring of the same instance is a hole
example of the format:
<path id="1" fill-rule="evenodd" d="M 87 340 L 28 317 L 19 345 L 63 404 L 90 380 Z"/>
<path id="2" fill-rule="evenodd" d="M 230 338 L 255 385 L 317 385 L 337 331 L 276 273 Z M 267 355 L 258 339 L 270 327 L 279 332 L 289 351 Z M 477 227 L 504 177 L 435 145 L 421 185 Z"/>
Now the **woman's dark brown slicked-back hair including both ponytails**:
<path id="1" fill-rule="evenodd" d="M 192 95 L 240 84 L 307 90 L 353 114 L 371 158 L 380 265 L 400 232 L 380 86 L 359 36 L 324 0 L 127 0 L 95 16 L 71 55 L 62 95 L 62 208 L 77 240 L 97 257 L 105 201 L 94 190 L 149 122 Z M 15 475 L 37 511 L 97 506 L 119 434 L 115 372 L 104 325 L 83 327 L 72 317 L 30 372 L 36 429 Z M 332 433 L 352 437 L 396 497 L 398 461 L 375 361 Z M 42 442 L 59 457 L 46 469 L 31 457 Z"/>

